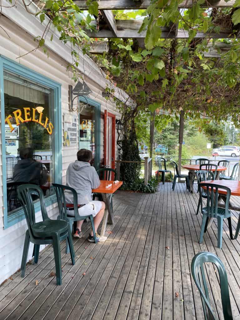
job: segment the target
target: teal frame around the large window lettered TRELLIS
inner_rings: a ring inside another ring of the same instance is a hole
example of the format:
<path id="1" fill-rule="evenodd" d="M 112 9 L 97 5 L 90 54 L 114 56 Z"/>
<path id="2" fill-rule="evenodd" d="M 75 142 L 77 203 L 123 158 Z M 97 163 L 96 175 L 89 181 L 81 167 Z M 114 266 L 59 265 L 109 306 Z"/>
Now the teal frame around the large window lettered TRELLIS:
<path id="1" fill-rule="evenodd" d="M 62 134 L 61 134 L 61 84 L 47 78 L 11 59 L 0 55 L 0 99 L 1 99 L 1 130 L 2 130 L 2 178 L 3 178 L 3 204 L 4 204 L 4 229 L 13 226 L 14 224 L 25 219 L 23 209 L 19 209 L 10 216 L 7 215 L 7 171 L 6 171 L 6 149 L 5 149 L 5 113 L 4 113 L 4 76 L 3 71 L 10 71 L 16 75 L 20 75 L 43 84 L 53 90 L 54 100 L 54 172 L 55 182 L 62 183 Z M 56 195 L 46 198 L 46 206 L 49 206 L 57 201 Z M 41 210 L 40 202 L 37 201 L 34 205 L 35 212 Z"/>

